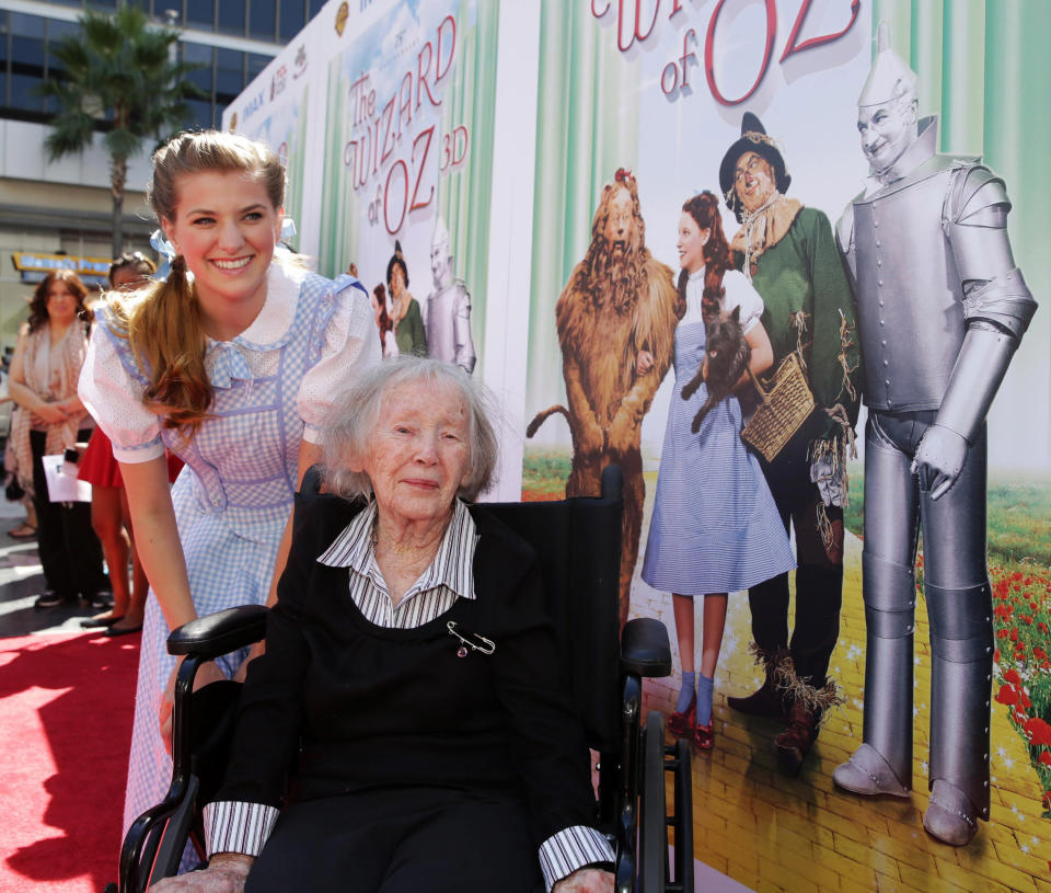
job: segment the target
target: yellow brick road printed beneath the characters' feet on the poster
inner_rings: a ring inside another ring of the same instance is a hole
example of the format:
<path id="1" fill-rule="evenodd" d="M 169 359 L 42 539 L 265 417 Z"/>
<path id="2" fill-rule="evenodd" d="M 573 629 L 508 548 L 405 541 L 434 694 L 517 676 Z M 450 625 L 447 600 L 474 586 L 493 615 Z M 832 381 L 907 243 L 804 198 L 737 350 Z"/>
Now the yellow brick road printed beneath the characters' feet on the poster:
<path id="1" fill-rule="evenodd" d="M 647 483 L 651 501 L 655 482 Z M 832 770 L 862 737 L 865 612 L 861 552 L 861 541 L 848 536 L 842 631 L 831 669 L 846 703 L 825 723 L 797 779 L 786 778 L 777 769 L 773 736 L 779 726 L 741 717 L 726 706 L 728 695 L 749 694 L 761 682 L 747 654 L 748 598 L 744 594 L 730 597 L 716 672 L 716 746 L 709 754 L 694 754 L 695 857 L 755 891 L 1051 893 L 1051 822 L 1041 818 L 1039 779 L 1002 705 L 993 703 L 991 821 L 980 823 L 975 839 L 961 849 L 938 844 L 923 831 L 931 674 L 922 598 L 916 611 L 912 799 L 867 800 L 833 786 Z M 675 673 L 668 679 L 647 680 L 645 688 L 646 707 L 667 717 L 679 687 L 671 598 L 636 576 L 632 615 L 659 617 L 668 627 Z M 697 610 L 698 643 L 700 615 Z"/>

